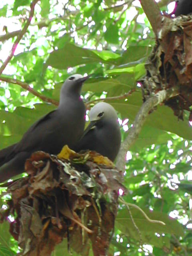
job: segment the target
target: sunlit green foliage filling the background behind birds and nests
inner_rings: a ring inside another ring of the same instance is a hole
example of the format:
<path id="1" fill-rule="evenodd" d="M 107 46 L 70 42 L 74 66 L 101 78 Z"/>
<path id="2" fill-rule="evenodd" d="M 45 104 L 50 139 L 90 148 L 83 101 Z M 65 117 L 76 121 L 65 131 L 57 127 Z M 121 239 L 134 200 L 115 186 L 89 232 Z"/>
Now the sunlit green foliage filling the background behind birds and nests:
<path id="1" fill-rule="evenodd" d="M 161 10 L 168 10 L 168 2 L 159 2 Z M 21 32 L 29 11 L 30 0 L 0 2 L 1 63 L 9 55 L 14 36 Z M 124 140 L 142 106 L 137 81 L 145 75 L 144 64 L 154 44 L 154 33 L 137 0 L 41 0 L 1 77 L 25 82 L 54 103 L 68 76 L 93 74 L 83 86 L 84 102 L 88 108 L 95 100 L 112 104 Z M 20 140 L 35 120 L 56 108 L 22 86 L 0 84 L 0 149 Z M 158 106 L 129 149 L 124 183 L 128 194 L 124 200 L 166 226 L 148 222 L 132 207 L 130 215 L 122 204 L 110 255 L 191 255 L 192 128 L 188 115 L 185 112 L 184 121 L 178 121 L 170 108 Z M 9 235 L 8 223 L 1 224 L 0 255 L 16 252 L 19 248 Z M 64 253 L 67 255 L 66 241 L 53 255 Z"/>

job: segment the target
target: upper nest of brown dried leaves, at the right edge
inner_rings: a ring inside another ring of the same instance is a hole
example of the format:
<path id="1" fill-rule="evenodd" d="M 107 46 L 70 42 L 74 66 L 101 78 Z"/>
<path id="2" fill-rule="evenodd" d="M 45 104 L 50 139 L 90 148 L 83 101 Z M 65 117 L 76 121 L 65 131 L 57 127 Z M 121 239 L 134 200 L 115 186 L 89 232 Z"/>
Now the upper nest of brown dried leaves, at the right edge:
<path id="1" fill-rule="evenodd" d="M 143 81 L 143 100 L 163 89 L 178 87 L 178 96 L 170 98 L 170 106 L 178 118 L 184 110 L 192 120 L 192 16 L 179 16 L 164 28 L 146 64 L 147 76 Z"/>

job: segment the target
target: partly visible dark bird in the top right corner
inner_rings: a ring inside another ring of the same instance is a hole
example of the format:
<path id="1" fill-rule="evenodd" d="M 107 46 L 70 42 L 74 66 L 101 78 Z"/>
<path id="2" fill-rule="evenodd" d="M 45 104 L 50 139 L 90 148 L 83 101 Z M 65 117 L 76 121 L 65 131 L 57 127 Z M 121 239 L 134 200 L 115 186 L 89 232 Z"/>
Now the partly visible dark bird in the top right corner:
<path id="1" fill-rule="evenodd" d="M 175 8 L 173 13 L 175 16 L 179 16 L 181 14 L 187 15 L 192 12 L 192 0 L 179 0 L 175 3 Z"/>

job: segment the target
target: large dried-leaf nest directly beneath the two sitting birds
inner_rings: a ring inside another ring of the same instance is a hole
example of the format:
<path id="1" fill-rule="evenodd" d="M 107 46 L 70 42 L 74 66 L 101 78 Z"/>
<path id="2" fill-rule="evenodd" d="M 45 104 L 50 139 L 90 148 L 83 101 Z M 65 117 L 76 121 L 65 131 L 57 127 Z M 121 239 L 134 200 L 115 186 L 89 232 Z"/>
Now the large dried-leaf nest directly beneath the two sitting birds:
<path id="1" fill-rule="evenodd" d="M 58 156 L 35 152 L 26 160 L 29 176 L 12 182 L 11 200 L 1 222 L 11 214 L 10 233 L 22 255 L 49 256 L 63 238 L 68 250 L 84 256 L 106 255 L 118 209 L 122 172 L 96 152 L 77 154 L 65 146 Z"/>

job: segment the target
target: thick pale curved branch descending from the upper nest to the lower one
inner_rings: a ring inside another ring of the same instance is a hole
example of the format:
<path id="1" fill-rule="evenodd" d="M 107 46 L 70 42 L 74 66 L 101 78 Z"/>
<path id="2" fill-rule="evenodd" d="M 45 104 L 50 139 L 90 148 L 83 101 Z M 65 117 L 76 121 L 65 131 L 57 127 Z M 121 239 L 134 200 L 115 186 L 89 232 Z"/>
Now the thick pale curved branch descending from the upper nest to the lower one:
<path id="1" fill-rule="evenodd" d="M 157 106 L 164 100 L 172 98 L 178 94 L 178 87 L 172 87 L 168 90 L 161 90 L 157 94 L 146 100 L 144 104 L 142 104 L 138 114 L 135 117 L 133 126 L 130 128 L 130 131 L 128 132 L 128 136 L 121 144 L 120 151 L 118 153 L 116 161 L 116 166 L 119 169 L 124 170 L 126 152 L 138 138 L 138 135 L 142 129 L 144 122 L 146 121 L 146 118 L 149 115 L 150 110 L 152 110 L 155 106 Z"/>

